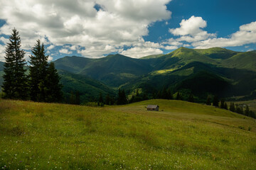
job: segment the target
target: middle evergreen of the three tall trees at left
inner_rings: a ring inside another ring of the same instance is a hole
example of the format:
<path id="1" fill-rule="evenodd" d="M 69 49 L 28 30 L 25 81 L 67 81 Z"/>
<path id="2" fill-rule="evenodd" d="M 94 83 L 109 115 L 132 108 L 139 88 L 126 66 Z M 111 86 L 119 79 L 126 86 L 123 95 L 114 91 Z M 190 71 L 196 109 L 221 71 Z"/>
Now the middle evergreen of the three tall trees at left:
<path id="1" fill-rule="evenodd" d="M 46 101 L 46 76 L 48 69 L 48 56 L 44 51 L 44 45 L 40 40 L 36 41 L 36 45 L 32 48 L 33 55 L 30 56 L 30 84 L 31 84 L 31 100 Z"/>

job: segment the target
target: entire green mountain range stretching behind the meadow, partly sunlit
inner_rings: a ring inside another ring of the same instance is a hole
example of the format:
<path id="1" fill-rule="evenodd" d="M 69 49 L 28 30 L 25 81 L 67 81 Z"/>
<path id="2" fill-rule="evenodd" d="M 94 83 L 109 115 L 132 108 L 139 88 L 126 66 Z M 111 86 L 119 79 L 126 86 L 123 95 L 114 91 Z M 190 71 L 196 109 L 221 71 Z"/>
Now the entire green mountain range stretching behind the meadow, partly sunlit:
<path id="1" fill-rule="evenodd" d="M 99 59 L 63 57 L 55 60 L 55 67 L 65 96 L 79 91 L 82 101 L 98 98 L 100 93 L 114 96 L 119 88 L 127 93 L 142 89 L 151 96 L 166 88 L 201 99 L 209 94 L 250 96 L 256 90 L 256 51 L 180 47 L 166 55 L 140 59 L 118 54 Z"/>

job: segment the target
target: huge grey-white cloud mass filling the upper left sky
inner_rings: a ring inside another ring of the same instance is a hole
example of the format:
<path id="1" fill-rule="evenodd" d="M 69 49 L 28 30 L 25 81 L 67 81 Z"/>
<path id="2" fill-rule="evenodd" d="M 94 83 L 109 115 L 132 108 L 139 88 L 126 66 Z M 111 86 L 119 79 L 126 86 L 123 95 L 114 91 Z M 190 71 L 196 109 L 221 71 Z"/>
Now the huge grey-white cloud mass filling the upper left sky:
<path id="1" fill-rule="evenodd" d="M 0 0 L 0 18 L 6 21 L 0 35 L 16 27 L 26 50 L 40 39 L 49 47 L 69 44 L 86 57 L 102 57 L 134 46 L 149 33 L 151 23 L 169 19 L 169 1 Z"/>

